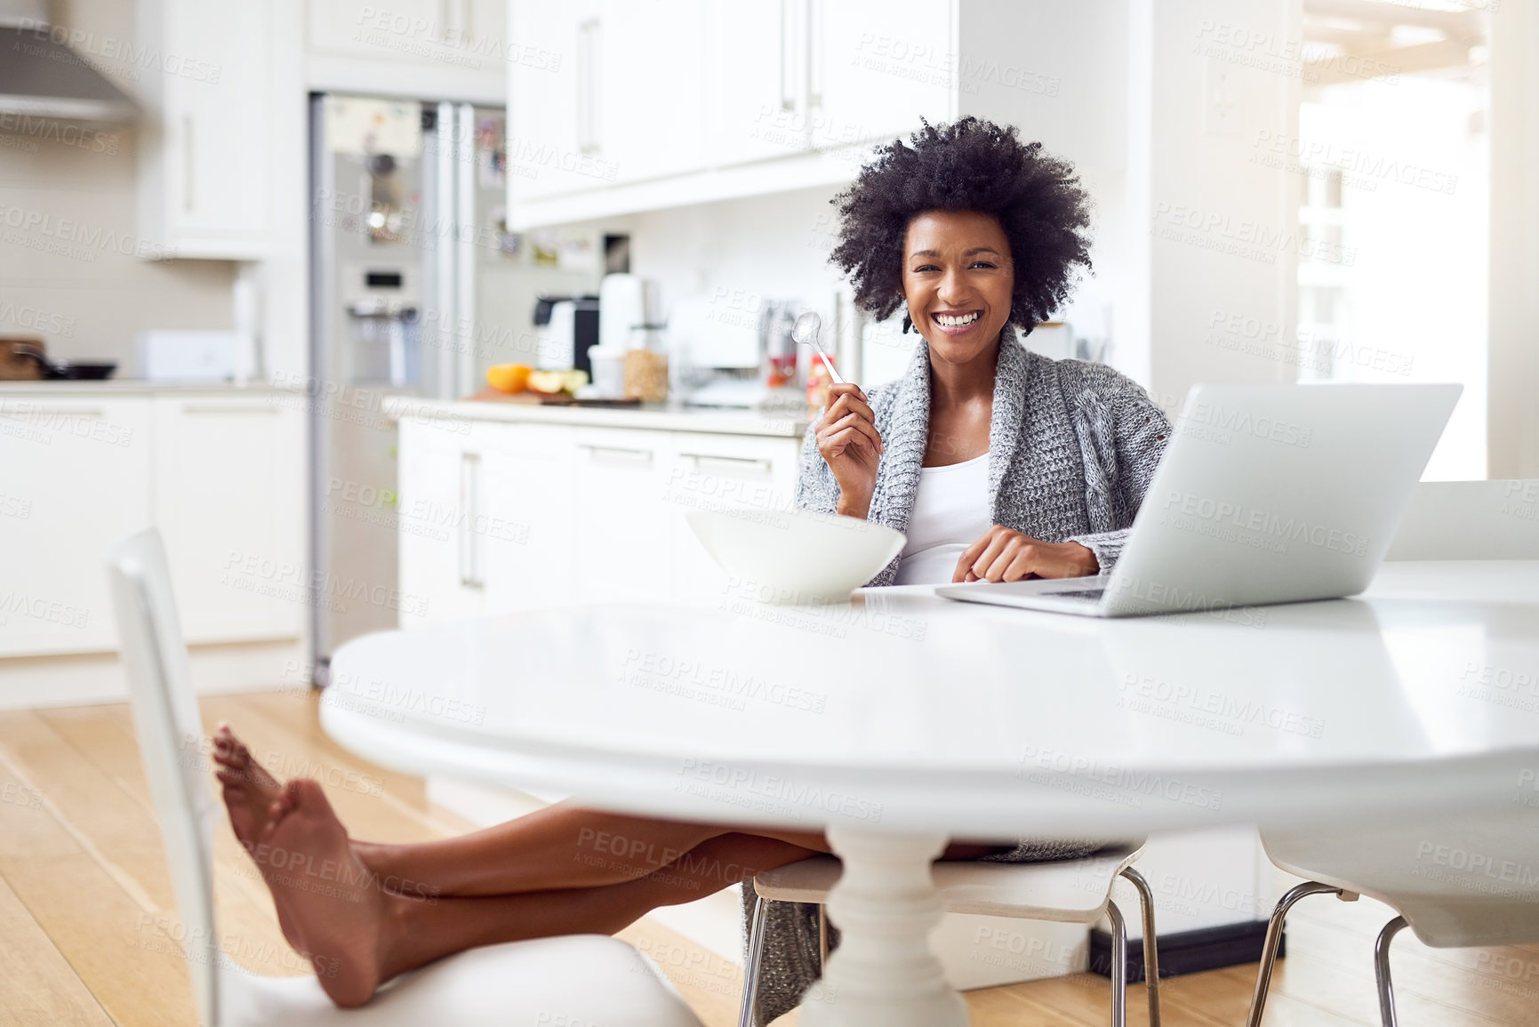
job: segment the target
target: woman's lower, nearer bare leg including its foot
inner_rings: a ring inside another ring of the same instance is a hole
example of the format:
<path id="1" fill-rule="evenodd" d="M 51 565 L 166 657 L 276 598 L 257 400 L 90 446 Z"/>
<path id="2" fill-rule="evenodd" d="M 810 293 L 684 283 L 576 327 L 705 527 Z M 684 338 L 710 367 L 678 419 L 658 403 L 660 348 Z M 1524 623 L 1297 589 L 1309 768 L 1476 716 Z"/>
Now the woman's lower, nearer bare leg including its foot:
<path id="1" fill-rule="evenodd" d="M 320 785 L 283 785 L 252 856 L 280 910 L 283 936 L 343 1007 L 389 978 L 476 945 L 571 933 L 614 933 L 659 905 L 689 902 L 811 850 L 723 833 L 623 884 L 499 896 L 423 899 L 377 887 Z"/>

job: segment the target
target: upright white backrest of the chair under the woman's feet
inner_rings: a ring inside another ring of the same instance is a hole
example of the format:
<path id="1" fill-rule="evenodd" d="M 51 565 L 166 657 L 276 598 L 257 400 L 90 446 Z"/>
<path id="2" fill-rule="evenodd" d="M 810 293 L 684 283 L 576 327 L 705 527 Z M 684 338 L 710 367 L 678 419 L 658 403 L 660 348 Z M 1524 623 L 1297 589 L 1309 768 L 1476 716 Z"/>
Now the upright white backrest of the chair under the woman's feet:
<path id="1" fill-rule="evenodd" d="M 139 754 L 186 928 L 199 1022 L 214 1024 L 220 961 L 214 933 L 214 796 L 166 551 L 160 533 L 149 530 L 119 542 L 105 559 Z"/>

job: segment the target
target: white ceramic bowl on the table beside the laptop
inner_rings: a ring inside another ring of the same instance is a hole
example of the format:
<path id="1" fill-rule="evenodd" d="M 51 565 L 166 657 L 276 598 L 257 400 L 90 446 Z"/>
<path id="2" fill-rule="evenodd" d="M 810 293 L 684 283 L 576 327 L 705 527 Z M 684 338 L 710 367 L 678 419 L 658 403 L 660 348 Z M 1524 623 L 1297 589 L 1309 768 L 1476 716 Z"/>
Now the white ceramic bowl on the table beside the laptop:
<path id="1" fill-rule="evenodd" d="M 891 528 L 806 510 L 697 510 L 686 517 L 705 551 L 759 602 L 845 602 L 903 550 L 903 536 Z"/>

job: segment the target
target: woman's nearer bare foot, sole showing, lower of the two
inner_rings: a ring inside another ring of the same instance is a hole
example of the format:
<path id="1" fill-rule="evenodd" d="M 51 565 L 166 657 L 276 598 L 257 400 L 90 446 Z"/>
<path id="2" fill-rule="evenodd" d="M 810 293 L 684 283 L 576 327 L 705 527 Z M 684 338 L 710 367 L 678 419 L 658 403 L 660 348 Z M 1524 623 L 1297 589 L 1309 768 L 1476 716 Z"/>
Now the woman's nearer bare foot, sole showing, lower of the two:
<path id="1" fill-rule="evenodd" d="M 400 898 L 348 844 L 348 831 L 319 782 L 295 778 L 272 804 L 251 850 L 272 892 L 283 936 L 315 967 L 320 987 L 343 1009 L 363 1005 L 379 989 Z"/>

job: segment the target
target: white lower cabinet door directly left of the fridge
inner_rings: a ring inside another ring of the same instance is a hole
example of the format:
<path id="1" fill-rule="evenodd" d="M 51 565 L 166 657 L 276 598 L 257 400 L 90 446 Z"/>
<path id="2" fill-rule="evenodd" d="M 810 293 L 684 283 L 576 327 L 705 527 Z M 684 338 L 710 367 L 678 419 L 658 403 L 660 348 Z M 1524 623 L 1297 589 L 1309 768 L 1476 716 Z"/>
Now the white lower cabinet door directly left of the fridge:
<path id="1" fill-rule="evenodd" d="M 303 414 L 277 396 L 155 396 L 151 505 L 189 644 L 297 637 Z M 328 590 L 319 602 L 339 600 Z"/>

